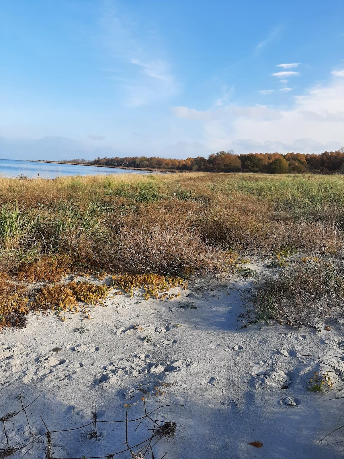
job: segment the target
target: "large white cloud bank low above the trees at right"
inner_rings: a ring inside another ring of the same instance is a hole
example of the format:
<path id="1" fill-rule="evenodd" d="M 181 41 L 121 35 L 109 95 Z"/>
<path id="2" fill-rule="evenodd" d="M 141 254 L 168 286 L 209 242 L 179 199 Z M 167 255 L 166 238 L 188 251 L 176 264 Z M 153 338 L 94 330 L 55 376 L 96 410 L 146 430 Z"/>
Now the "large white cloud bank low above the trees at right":
<path id="1" fill-rule="evenodd" d="M 283 89 L 283 88 L 282 88 Z M 184 107 L 184 113 L 187 112 Z M 197 111 L 197 139 L 208 151 L 233 148 L 236 153 L 288 151 L 320 153 L 344 144 L 344 79 L 331 78 L 294 97 L 289 107 L 222 107 Z"/>

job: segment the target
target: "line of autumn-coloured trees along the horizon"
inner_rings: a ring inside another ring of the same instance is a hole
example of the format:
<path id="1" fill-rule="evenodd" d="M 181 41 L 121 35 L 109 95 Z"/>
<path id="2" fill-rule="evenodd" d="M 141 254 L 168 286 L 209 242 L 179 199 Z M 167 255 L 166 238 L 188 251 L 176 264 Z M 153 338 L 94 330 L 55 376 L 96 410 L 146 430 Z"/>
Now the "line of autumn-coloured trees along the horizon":
<path id="1" fill-rule="evenodd" d="M 233 151 L 219 151 L 207 159 L 201 156 L 187 159 L 165 159 L 160 157 L 100 158 L 93 161 L 73 159 L 65 162 L 93 164 L 99 166 L 173 169 L 179 171 L 205 172 L 261 172 L 267 174 L 344 174 L 344 148 L 325 151 L 320 155 L 303 153 L 250 153 L 235 155 Z"/>

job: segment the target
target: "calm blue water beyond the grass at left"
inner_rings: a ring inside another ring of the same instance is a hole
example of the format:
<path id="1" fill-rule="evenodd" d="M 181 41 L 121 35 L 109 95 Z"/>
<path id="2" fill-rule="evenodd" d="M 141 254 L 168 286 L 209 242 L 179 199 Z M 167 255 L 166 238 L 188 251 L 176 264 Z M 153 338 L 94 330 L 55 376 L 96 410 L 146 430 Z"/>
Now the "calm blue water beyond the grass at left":
<path id="1" fill-rule="evenodd" d="M 39 174 L 39 177 L 42 179 L 54 179 L 62 175 L 152 174 L 152 172 L 132 169 L 99 168 L 97 166 L 78 166 L 74 164 L 54 164 L 52 162 L 0 159 L 0 177 L 17 177 L 20 174 L 33 178 L 36 178 Z"/>

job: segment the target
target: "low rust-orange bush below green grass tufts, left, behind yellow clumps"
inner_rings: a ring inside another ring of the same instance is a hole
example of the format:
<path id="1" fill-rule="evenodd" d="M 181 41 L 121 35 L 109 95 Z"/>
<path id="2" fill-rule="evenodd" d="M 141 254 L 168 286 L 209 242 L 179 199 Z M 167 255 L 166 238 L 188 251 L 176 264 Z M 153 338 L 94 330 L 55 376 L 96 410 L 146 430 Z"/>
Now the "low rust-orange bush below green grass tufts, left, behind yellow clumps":
<path id="1" fill-rule="evenodd" d="M 70 272 L 71 264 L 67 255 L 41 257 L 33 262 L 21 263 L 17 270 L 17 279 L 28 282 L 56 282 Z"/>

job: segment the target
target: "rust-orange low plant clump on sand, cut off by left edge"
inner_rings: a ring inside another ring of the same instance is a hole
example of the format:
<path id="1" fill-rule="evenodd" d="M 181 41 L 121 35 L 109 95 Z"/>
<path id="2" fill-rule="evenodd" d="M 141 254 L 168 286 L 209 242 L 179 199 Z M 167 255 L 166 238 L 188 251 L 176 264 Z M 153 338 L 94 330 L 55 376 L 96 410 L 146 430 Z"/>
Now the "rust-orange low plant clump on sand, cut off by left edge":
<path id="1" fill-rule="evenodd" d="M 28 290 L 23 285 L 17 285 L 0 275 L 0 329 L 6 326 L 24 327 L 27 314 Z"/>

